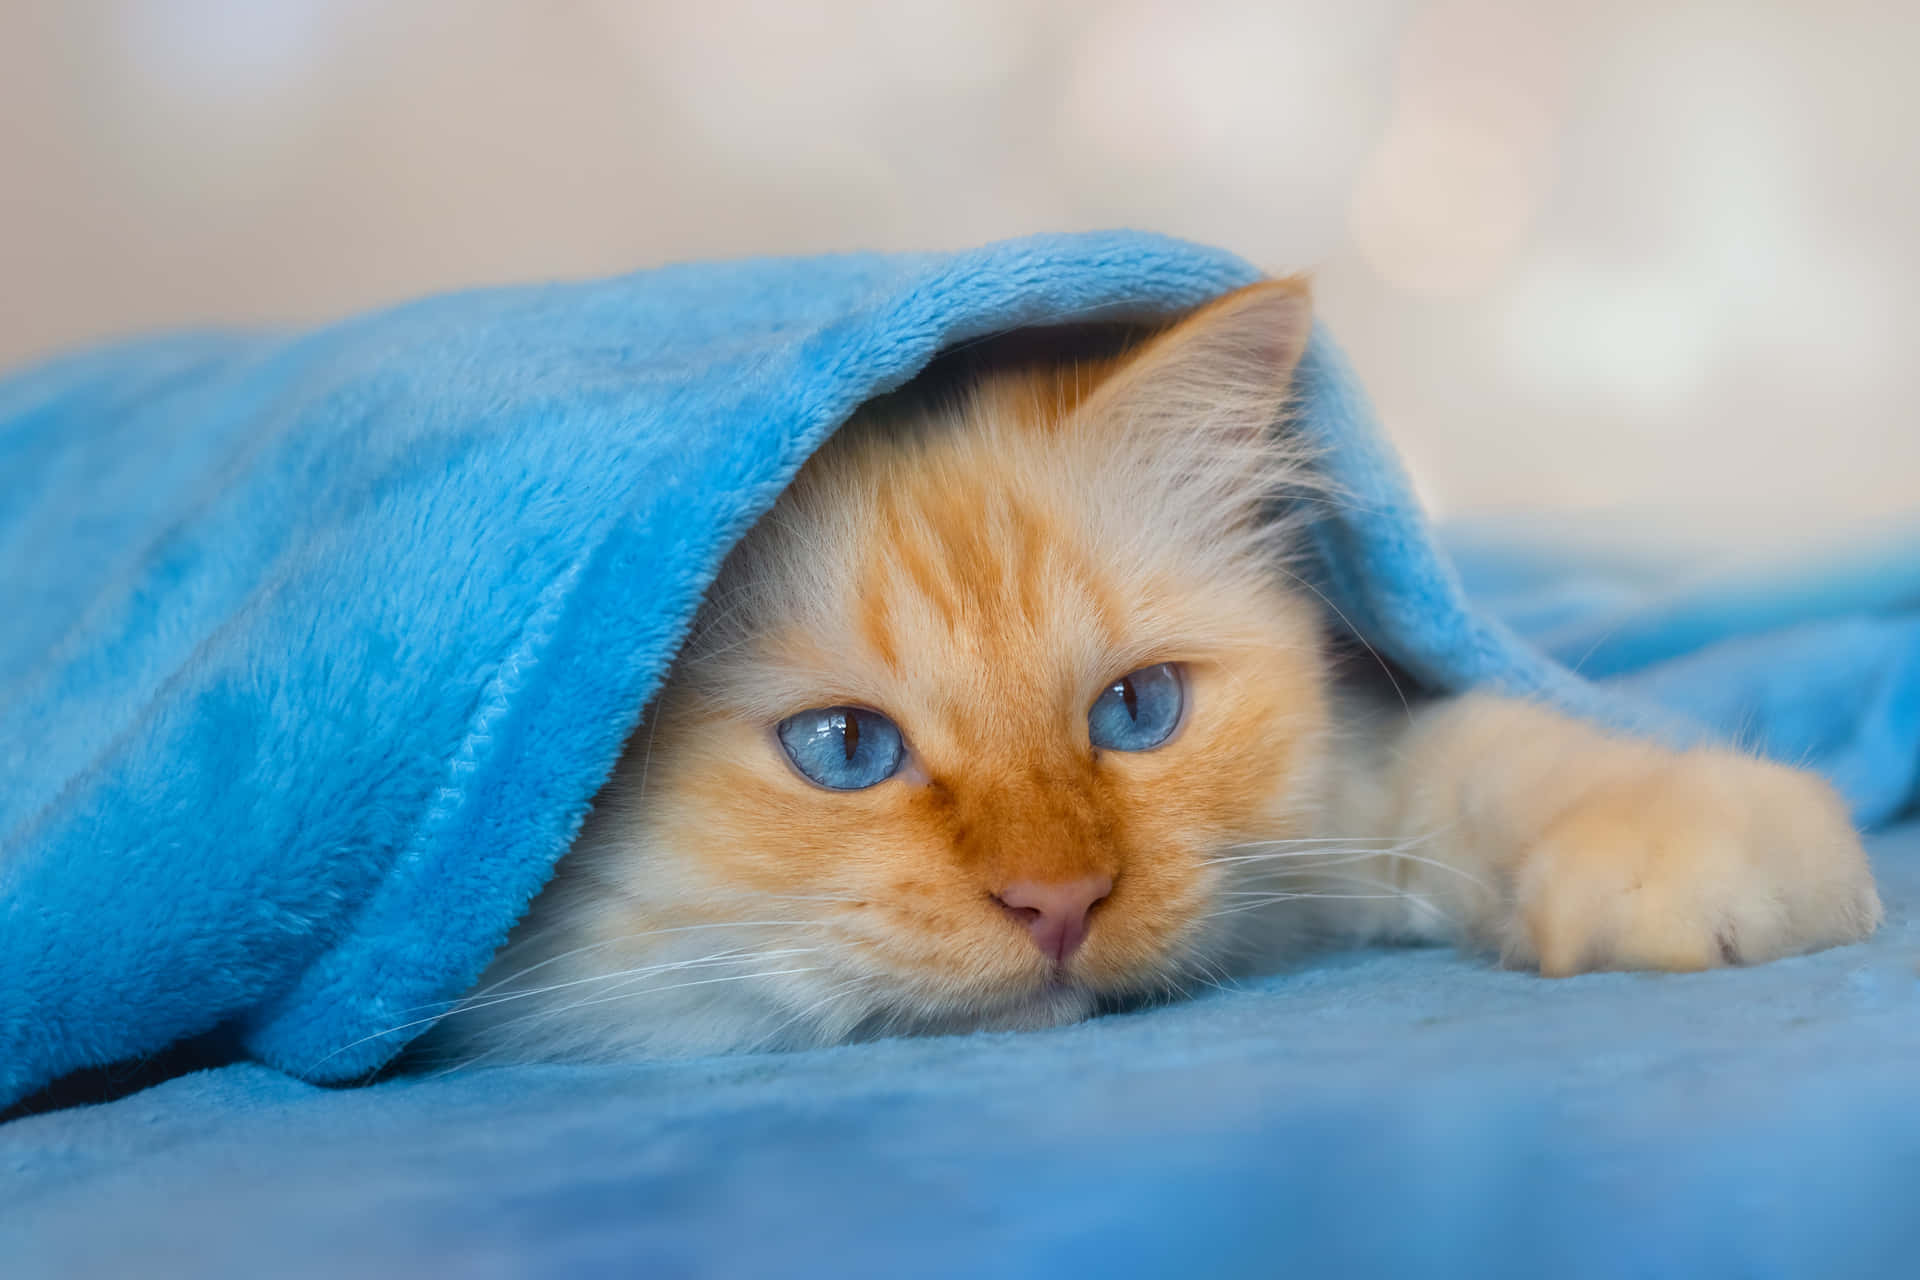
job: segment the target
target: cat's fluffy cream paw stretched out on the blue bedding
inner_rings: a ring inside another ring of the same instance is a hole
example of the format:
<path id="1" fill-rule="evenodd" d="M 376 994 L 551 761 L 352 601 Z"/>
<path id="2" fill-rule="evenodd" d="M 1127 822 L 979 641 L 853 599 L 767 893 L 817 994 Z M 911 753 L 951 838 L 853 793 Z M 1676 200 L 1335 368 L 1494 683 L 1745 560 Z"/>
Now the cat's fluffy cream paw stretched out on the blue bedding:
<path id="1" fill-rule="evenodd" d="M 1732 752 L 1661 754 L 1586 791 L 1513 867 L 1507 963 L 1711 969 L 1857 942 L 1880 896 L 1839 796 Z"/>

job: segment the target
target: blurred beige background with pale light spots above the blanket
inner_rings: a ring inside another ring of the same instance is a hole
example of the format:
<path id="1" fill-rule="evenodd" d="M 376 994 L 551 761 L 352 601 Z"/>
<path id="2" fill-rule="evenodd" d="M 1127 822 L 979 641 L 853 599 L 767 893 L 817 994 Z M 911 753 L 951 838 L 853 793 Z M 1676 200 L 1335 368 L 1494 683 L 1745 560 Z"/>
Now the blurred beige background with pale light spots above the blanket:
<path id="1" fill-rule="evenodd" d="M 0 365 L 674 259 L 1317 273 L 1430 505 L 1920 509 L 1920 4 L 0 0 Z"/>

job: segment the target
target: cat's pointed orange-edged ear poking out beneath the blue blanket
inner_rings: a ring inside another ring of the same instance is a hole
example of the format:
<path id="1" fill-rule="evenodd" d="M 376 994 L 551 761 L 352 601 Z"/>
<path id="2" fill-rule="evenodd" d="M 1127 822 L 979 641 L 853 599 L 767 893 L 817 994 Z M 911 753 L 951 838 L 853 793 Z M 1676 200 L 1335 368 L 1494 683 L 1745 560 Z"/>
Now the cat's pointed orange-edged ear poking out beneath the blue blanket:
<path id="1" fill-rule="evenodd" d="M 1286 405 L 1311 330 L 1302 276 L 1250 284 L 1146 342 L 1081 405 L 1083 420 L 1104 432 L 1206 426 L 1260 439 Z"/>

